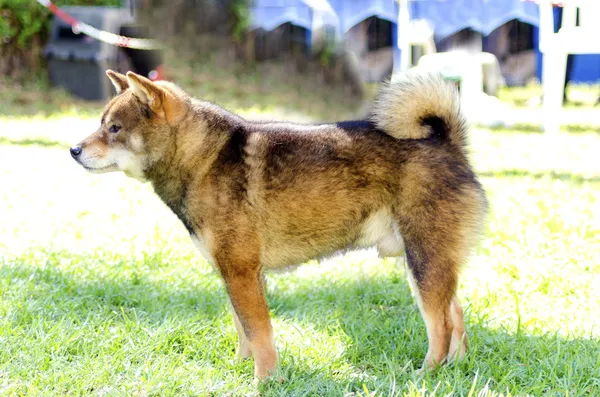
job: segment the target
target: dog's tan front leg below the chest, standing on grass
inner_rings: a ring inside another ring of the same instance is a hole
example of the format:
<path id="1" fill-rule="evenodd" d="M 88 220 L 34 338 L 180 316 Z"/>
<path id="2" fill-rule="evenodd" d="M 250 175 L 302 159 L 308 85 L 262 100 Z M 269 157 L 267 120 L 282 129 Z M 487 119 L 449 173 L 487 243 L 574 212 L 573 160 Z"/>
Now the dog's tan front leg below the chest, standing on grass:
<path id="1" fill-rule="evenodd" d="M 254 357 L 254 376 L 262 379 L 275 371 L 277 352 L 260 266 L 229 263 L 229 266 L 220 266 L 221 274 L 235 311 L 234 319 L 239 320 L 247 347 Z M 243 342 L 240 348 L 243 353 Z"/>

